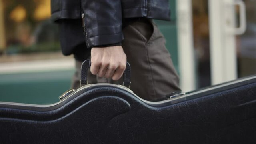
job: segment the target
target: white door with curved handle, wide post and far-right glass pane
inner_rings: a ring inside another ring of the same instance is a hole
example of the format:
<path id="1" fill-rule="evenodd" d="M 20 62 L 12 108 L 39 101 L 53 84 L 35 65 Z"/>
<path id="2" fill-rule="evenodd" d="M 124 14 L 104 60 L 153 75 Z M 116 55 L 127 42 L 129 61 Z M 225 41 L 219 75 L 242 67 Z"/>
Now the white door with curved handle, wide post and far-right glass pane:
<path id="1" fill-rule="evenodd" d="M 212 84 L 256 74 L 256 0 L 208 0 Z"/>

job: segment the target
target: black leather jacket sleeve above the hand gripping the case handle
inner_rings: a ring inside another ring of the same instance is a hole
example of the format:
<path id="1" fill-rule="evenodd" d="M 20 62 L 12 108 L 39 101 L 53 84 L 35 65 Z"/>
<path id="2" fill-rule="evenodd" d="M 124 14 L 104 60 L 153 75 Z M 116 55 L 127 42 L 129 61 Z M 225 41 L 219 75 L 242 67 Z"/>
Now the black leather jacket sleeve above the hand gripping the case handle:
<path id="1" fill-rule="evenodd" d="M 87 48 L 122 42 L 120 0 L 81 0 Z"/>

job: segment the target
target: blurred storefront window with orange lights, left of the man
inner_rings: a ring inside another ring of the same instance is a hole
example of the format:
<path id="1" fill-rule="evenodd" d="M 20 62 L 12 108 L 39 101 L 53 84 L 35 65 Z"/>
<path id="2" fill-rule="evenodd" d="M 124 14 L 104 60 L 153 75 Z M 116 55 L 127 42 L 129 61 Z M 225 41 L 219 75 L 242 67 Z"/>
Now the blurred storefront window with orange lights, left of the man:
<path id="1" fill-rule="evenodd" d="M 60 50 L 58 27 L 50 22 L 50 0 L 1 0 L 1 53 Z"/>

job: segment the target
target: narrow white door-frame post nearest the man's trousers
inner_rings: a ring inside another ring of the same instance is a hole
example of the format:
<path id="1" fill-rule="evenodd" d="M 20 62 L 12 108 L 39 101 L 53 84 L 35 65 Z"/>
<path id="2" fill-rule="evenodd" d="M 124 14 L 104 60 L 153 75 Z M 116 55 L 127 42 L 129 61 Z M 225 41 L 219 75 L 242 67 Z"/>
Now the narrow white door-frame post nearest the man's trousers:
<path id="1" fill-rule="evenodd" d="M 176 0 L 180 86 L 187 92 L 196 88 L 191 0 Z"/>

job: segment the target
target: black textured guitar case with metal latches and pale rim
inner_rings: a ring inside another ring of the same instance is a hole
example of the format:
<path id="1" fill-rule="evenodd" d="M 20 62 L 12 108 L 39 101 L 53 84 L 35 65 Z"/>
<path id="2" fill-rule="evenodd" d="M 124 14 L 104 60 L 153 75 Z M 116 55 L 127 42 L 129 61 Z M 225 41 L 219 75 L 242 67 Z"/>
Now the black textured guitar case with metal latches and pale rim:
<path id="1" fill-rule="evenodd" d="M 0 144 L 256 143 L 256 76 L 160 102 L 114 84 L 83 86 L 60 99 L 1 102 Z"/>

